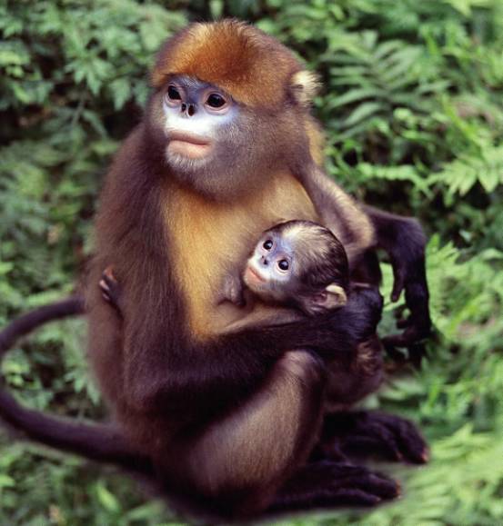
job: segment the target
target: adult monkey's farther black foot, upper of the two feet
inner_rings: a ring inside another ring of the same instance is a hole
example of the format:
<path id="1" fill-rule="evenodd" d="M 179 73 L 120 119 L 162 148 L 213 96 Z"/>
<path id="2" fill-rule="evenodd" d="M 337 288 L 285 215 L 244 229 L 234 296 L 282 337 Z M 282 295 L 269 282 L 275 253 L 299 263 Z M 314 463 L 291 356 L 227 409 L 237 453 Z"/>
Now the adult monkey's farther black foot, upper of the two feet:
<path id="1" fill-rule="evenodd" d="M 380 456 L 389 461 L 424 464 L 428 445 L 416 426 L 384 412 L 327 415 L 319 449 L 328 458 Z"/>

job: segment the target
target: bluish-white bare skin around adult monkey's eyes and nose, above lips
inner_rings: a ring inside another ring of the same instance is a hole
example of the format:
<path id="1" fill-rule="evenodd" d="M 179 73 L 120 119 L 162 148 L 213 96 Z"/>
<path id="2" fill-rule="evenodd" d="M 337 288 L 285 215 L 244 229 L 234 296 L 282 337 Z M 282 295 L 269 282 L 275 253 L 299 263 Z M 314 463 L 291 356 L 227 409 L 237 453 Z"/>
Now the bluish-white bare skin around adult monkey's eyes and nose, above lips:
<path id="1" fill-rule="evenodd" d="M 170 132 L 185 132 L 215 140 L 218 129 L 236 119 L 237 104 L 216 86 L 187 76 L 175 76 L 169 84 L 176 86 L 181 100 L 176 104 L 169 100 L 167 93 L 165 95 L 163 111 L 166 135 Z M 209 94 L 221 94 L 225 97 L 228 104 L 225 113 L 206 104 Z"/>

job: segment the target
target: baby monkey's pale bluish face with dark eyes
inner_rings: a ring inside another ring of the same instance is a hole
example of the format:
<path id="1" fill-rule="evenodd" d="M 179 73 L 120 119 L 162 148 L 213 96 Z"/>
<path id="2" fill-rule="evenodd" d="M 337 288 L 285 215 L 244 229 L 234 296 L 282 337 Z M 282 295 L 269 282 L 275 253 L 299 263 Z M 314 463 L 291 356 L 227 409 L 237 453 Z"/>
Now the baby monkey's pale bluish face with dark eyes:
<path id="1" fill-rule="evenodd" d="M 262 236 L 246 263 L 246 286 L 277 301 L 293 292 L 297 283 L 295 245 L 288 235 L 267 232 Z"/>

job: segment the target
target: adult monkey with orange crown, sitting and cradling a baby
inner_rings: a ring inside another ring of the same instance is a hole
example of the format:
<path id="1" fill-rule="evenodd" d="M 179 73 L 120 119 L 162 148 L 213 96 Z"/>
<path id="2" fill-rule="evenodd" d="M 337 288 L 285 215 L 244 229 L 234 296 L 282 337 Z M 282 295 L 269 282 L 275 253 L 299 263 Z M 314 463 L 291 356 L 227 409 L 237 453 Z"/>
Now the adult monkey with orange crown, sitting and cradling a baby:
<path id="1" fill-rule="evenodd" d="M 395 496 L 393 482 L 365 468 L 305 463 L 323 417 L 326 364 L 319 356 L 351 358 L 355 343 L 375 330 L 375 293 L 356 295 L 316 323 L 261 304 L 243 310 L 213 302 L 228 265 L 246 259 L 249 238 L 280 221 L 326 223 L 354 266 L 374 247 L 368 217 L 375 214 L 362 213 L 304 151 L 316 126 L 301 65 L 253 27 L 192 25 L 161 51 L 153 84 L 146 118 L 108 175 L 87 298 L 91 360 L 135 444 L 131 451 L 121 444 L 126 453 L 112 460 L 128 465 L 136 450 L 168 491 L 230 517 Z M 408 220 L 387 221 L 418 254 L 412 284 L 426 298 L 422 237 Z M 402 242 L 381 239 L 394 250 Z M 110 264 L 122 285 L 124 319 L 97 288 Z M 428 308 L 423 318 L 428 326 Z M 27 428 L 28 419 L 16 421 L 7 405 L 0 403 L 4 417 Z M 355 419 L 349 425 L 360 435 L 361 421 L 372 429 L 382 423 Z M 405 428 L 395 420 L 385 442 L 398 442 L 393 431 L 404 440 Z M 409 458 L 420 460 L 424 443 L 406 431 L 405 452 L 415 442 Z M 58 445 L 50 434 L 35 438 Z M 67 442 L 79 452 L 86 445 L 78 432 Z"/>

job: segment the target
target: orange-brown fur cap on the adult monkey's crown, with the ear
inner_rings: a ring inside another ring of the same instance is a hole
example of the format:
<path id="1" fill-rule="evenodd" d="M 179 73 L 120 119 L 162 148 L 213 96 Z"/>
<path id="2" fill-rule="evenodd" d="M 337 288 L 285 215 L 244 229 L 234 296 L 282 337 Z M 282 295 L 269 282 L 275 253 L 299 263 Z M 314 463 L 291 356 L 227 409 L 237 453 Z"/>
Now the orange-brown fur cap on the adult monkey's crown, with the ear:
<path id="1" fill-rule="evenodd" d="M 222 20 L 189 25 L 170 39 L 157 56 L 152 84 L 158 88 L 170 74 L 186 74 L 218 85 L 237 102 L 277 108 L 287 85 L 308 84 L 307 96 L 315 91 L 314 75 L 296 75 L 303 70 L 275 38 L 244 22 Z"/>

